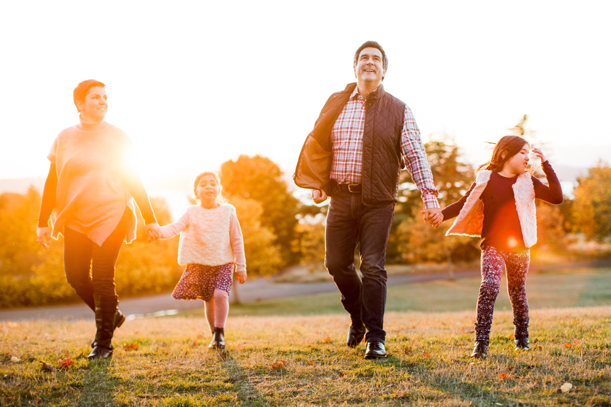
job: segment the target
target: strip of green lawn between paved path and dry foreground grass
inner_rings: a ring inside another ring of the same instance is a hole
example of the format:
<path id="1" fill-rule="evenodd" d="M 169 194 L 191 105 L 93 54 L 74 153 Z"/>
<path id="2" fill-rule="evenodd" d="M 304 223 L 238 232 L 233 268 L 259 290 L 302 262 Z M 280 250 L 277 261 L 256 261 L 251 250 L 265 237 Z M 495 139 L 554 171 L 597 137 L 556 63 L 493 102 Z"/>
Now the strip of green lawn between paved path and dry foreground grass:
<path id="1" fill-rule="evenodd" d="M 387 311 L 445 312 L 473 310 L 480 278 L 439 280 L 388 287 Z M 584 268 L 531 274 L 527 279 L 530 309 L 611 305 L 611 269 Z M 339 293 L 300 296 L 244 303 L 230 307 L 231 316 L 344 314 Z M 203 306 L 203 303 L 202 303 Z M 497 310 L 510 310 L 505 277 L 497 297 Z M 203 311 L 189 311 L 203 317 Z"/>

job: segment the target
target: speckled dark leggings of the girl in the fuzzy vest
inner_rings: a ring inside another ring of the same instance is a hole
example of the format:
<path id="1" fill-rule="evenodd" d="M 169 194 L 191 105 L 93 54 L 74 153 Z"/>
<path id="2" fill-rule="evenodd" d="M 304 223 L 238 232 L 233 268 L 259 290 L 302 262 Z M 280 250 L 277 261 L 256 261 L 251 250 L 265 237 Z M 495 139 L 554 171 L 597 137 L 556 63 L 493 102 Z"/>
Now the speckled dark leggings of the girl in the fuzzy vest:
<path id="1" fill-rule="evenodd" d="M 500 277 L 507 270 L 507 293 L 513 308 L 516 338 L 529 336 L 529 301 L 526 299 L 526 273 L 530 250 L 506 252 L 488 247 L 481 252 L 481 285 L 477 299 L 475 340 L 489 340 L 494 301 L 500 290 Z"/>

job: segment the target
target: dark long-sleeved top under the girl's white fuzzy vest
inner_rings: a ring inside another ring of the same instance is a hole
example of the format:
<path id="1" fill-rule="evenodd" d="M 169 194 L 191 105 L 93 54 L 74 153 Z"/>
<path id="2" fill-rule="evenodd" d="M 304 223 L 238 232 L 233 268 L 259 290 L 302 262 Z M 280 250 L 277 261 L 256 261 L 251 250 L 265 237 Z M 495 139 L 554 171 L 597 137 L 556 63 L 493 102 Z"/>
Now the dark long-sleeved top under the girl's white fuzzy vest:
<path id="1" fill-rule="evenodd" d="M 562 204 L 562 188 L 554 169 L 549 161 L 544 162 L 542 167 L 549 186 L 531 175 L 535 187 L 535 198 L 554 205 Z M 492 172 L 488 185 L 481 193 L 480 199 L 484 204 L 480 244 L 482 250 L 489 246 L 508 252 L 525 249 L 512 188 L 517 180 L 517 177 L 507 178 L 497 172 Z M 442 210 L 444 221 L 458 216 L 474 187 L 475 182 L 461 199 Z"/>

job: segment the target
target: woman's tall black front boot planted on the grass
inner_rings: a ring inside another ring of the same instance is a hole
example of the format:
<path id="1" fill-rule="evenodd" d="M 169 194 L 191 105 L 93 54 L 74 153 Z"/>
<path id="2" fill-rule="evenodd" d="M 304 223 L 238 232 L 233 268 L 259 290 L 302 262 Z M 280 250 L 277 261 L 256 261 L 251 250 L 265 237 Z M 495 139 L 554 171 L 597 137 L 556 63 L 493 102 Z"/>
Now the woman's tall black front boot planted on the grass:
<path id="1" fill-rule="evenodd" d="M 112 358 L 112 334 L 115 327 L 115 315 L 117 314 L 116 295 L 93 295 L 95 299 L 95 339 L 93 350 L 87 358 L 108 359 Z"/>

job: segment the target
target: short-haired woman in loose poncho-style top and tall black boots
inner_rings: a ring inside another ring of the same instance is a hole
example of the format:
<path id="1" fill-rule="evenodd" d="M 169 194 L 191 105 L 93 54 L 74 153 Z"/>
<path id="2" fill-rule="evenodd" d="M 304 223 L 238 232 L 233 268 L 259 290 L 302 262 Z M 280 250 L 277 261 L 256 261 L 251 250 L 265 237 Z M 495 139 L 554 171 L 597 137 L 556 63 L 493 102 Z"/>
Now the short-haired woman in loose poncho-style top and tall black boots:
<path id="1" fill-rule="evenodd" d="M 123 240 L 131 243 L 136 235 L 134 199 L 145 232 L 159 230 L 142 180 L 128 163 L 130 139 L 104 121 L 104 86 L 89 79 L 74 90 L 80 122 L 53 142 L 37 229 L 45 249 L 51 237 L 64 235 L 66 279 L 95 312 L 97 332 L 89 359 L 112 357 L 112 335 L 125 321 L 118 309 L 114 267 Z"/>

